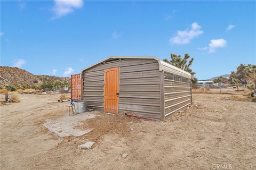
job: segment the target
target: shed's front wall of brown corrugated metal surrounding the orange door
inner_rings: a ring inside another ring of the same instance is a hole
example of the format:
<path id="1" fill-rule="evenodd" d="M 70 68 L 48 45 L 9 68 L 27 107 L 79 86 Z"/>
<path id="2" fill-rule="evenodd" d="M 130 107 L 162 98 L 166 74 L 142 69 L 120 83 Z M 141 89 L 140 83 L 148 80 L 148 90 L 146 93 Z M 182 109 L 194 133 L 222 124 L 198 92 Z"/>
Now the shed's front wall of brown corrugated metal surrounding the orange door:
<path id="1" fill-rule="evenodd" d="M 160 118 L 159 63 L 155 59 L 110 59 L 82 72 L 83 100 L 103 111 L 104 69 L 119 67 L 119 111 Z"/>

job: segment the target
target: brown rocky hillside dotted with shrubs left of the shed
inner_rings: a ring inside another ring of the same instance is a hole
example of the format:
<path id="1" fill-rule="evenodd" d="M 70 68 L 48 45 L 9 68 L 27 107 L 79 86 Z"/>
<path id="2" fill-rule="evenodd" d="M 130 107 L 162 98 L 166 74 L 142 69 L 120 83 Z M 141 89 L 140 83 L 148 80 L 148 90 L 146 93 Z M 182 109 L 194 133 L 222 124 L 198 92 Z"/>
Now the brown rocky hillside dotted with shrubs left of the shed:
<path id="1" fill-rule="evenodd" d="M 34 75 L 17 67 L 0 66 L 0 87 L 15 86 L 17 88 L 40 88 L 46 82 L 54 82 L 70 86 L 70 78 L 50 75 Z"/>

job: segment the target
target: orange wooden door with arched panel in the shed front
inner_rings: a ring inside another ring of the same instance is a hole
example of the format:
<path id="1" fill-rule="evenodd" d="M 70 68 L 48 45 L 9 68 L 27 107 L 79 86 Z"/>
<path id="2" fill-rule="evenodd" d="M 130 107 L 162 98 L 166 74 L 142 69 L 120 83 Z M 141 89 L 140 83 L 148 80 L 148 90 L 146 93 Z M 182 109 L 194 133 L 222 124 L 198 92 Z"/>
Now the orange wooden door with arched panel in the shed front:
<path id="1" fill-rule="evenodd" d="M 118 113 L 119 67 L 105 69 L 104 112 Z"/>

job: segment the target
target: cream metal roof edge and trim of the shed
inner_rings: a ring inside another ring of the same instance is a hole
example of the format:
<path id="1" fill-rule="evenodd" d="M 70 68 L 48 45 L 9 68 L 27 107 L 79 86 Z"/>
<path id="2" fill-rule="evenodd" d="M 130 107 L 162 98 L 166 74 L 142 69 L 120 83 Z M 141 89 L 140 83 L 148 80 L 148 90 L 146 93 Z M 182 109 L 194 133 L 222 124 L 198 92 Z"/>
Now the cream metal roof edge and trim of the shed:
<path id="1" fill-rule="evenodd" d="M 108 60 L 111 60 L 111 59 L 115 59 L 115 58 L 121 58 L 121 59 L 130 59 L 130 58 L 140 58 L 140 59 L 154 59 L 156 60 L 158 63 L 159 63 L 159 71 L 169 71 L 169 72 L 179 72 L 183 75 L 187 75 L 187 77 L 191 78 L 191 74 L 187 71 L 184 71 L 182 69 L 179 69 L 178 67 L 172 65 L 172 64 L 169 64 L 169 63 L 166 63 L 162 60 L 159 60 L 157 57 L 153 57 L 153 56 L 143 56 L 143 57 L 140 57 L 140 56 L 110 56 L 108 58 L 105 58 L 104 60 L 98 62 L 98 63 L 95 63 L 89 67 L 86 67 L 85 69 L 82 70 L 85 71 L 87 69 L 90 69 L 91 67 L 95 66 L 95 65 L 98 65 L 98 64 L 101 64 L 105 61 L 108 61 Z"/>

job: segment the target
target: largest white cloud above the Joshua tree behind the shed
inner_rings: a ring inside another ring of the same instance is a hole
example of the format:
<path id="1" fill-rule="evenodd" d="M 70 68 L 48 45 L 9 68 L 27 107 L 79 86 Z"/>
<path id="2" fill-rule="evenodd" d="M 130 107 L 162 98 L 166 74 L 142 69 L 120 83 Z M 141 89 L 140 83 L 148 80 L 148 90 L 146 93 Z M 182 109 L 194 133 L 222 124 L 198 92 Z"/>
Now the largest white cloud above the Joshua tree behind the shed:
<path id="1" fill-rule="evenodd" d="M 170 39 L 170 42 L 176 45 L 188 44 L 192 39 L 198 37 L 202 33 L 204 33 L 204 31 L 201 30 L 201 26 L 198 25 L 197 22 L 194 22 L 191 24 L 190 29 L 183 31 L 178 30 L 176 35 Z"/>

